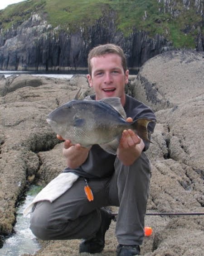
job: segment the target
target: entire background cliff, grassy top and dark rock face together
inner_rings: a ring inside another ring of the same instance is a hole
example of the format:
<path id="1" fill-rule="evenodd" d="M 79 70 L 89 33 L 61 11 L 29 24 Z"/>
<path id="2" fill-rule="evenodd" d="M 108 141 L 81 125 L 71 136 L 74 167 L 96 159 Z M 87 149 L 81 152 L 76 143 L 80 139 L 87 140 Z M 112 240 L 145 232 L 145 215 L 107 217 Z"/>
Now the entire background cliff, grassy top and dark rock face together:
<path id="1" fill-rule="evenodd" d="M 54 2 L 53 10 L 31 0 L 0 11 L 0 69 L 79 70 L 107 42 L 121 45 L 129 68 L 174 48 L 204 50 L 202 1 L 93 2 Z"/>

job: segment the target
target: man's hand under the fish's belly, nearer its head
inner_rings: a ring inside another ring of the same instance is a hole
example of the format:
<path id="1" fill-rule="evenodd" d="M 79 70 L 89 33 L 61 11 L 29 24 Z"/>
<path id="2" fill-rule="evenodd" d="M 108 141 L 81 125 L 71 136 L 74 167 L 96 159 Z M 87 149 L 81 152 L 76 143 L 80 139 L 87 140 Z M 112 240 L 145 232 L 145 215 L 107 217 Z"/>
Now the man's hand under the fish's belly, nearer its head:
<path id="1" fill-rule="evenodd" d="M 62 136 L 57 135 L 58 140 L 64 141 Z M 70 140 L 64 141 L 63 156 L 67 160 L 68 167 L 75 169 L 81 166 L 87 159 L 91 147 L 85 148 L 80 144 L 72 144 Z"/>

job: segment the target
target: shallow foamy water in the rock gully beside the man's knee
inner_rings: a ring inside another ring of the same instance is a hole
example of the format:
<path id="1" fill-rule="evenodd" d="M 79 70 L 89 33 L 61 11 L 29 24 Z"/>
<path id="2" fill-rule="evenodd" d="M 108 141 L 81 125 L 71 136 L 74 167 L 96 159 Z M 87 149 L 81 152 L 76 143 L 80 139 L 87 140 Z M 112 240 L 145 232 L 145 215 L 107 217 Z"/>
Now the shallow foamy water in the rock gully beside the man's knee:
<path id="1" fill-rule="evenodd" d="M 17 209 L 16 224 L 14 234 L 4 241 L 3 247 L 0 249 L 0 256 L 20 256 L 24 253 L 34 254 L 41 247 L 36 237 L 29 229 L 30 215 L 24 217 L 23 211 L 37 195 L 42 187 L 32 186 L 27 192 L 25 201 L 21 203 Z"/>

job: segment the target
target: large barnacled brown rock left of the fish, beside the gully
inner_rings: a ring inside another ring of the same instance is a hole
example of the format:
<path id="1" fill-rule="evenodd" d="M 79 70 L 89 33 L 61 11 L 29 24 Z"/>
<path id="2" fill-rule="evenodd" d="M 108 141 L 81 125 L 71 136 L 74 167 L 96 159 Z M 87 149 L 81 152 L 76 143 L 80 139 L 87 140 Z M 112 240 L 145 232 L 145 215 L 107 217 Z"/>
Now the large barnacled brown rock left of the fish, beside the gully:
<path id="1" fill-rule="evenodd" d="M 42 165 L 38 152 L 48 151 L 59 143 L 46 115 L 71 100 L 79 87 L 86 92 L 88 85 L 84 76 L 74 77 L 73 84 L 68 85 L 67 80 L 58 83 L 31 75 L 9 77 L 2 84 L 12 88 L 0 98 L 0 235 L 8 235 L 26 180 L 33 182 Z"/>

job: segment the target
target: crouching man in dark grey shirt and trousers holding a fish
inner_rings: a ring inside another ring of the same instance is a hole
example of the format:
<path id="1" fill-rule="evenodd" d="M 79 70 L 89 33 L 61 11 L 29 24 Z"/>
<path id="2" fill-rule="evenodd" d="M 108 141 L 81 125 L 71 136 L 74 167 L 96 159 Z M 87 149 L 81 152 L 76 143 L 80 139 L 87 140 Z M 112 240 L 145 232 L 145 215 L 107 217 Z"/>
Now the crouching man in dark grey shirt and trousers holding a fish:
<path id="1" fill-rule="evenodd" d="M 129 70 L 119 46 L 93 48 L 88 55 L 88 71 L 89 85 L 95 91 L 92 100 L 120 97 L 128 122 L 141 117 L 155 120 L 150 108 L 125 94 Z M 153 122 L 148 125 L 149 134 L 154 126 Z M 68 167 L 64 172 L 75 173 L 79 178 L 53 203 L 35 204 L 30 225 L 33 233 L 43 240 L 83 239 L 79 252 L 101 252 L 113 219 L 104 206 L 119 206 L 117 256 L 139 255 L 151 177 L 150 163 L 144 153 L 148 147 L 149 142 L 142 141 L 132 130 L 123 131 L 117 156 L 98 145 L 84 148 L 65 141 L 63 155 Z M 88 201 L 84 192 L 87 184 L 93 201 Z"/>

